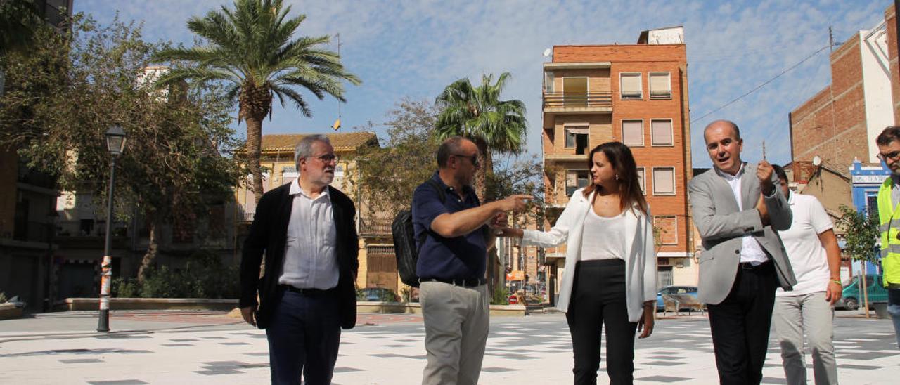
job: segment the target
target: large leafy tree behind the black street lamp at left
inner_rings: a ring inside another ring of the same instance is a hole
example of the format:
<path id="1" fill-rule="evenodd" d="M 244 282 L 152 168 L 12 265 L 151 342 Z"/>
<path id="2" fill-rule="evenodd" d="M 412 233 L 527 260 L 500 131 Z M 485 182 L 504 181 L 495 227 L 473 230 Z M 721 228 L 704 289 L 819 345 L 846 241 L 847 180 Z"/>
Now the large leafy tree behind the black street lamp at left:
<path id="1" fill-rule="evenodd" d="M 0 145 L 57 177 L 62 190 L 105 201 L 104 133 L 120 125 L 128 146 L 117 162 L 116 201 L 148 223 L 142 278 L 160 227 L 201 219 L 209 202 L 230 199 L 244 175 L 229 157 L 242 145 L 229 128 L 231 103 L 216 86 L 149 87 L 145 69 L 165 46 L 142 40 L 133 23 L 103 27 L 78 15 L 71 31 L 41 30 L 33 46 L 4 58 L 10 81 L 0 97 Z"/>

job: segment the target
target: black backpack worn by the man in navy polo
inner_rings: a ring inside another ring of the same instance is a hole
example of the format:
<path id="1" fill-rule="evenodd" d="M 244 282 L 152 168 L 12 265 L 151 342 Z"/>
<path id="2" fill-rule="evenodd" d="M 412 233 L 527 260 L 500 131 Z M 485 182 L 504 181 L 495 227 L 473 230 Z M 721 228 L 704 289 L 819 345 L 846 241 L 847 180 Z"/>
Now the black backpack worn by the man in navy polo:
<path id="1" fill-rule="evenodd" d="M 437 190 L 437 196 L 441 203 L 446 201 L 446 193 L 434 179 L 428 179 L 425 183 Z M 391 235 L 394 239 L 394 254 L 397 255 L 397 272 L 400 279 L 412 287 L 419 287 L 419 274 L 416 273 L 416 264 L 419 263 L 419 251 L 428 237 L 428 229 L 419 237 L 419 246 L 416 245 L 416 231 L 412 228 L 412 210 L 401 210 L 394 217 L 391 224 Z"/>

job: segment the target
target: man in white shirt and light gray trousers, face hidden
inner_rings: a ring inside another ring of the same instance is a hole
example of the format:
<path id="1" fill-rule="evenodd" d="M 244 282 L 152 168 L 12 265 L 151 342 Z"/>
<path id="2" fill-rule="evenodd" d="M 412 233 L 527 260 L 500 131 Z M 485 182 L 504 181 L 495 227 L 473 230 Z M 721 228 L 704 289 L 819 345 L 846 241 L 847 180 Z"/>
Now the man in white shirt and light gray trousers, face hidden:
<path id="1" fill-rule="evenodd" d="M 788 384 L 806 384 L 806 331 L 815 384 L 836 384 L 838 368 L 832 339 L 834 302 L 841 299 L 842 291 L 841 248 L 822 203 L 815 196 L 792 193 L 784 169 L 774 168 L 794 213 L 790 228 L 779 231 L 779 236 L 797 275 L 794 291 L 775 292 L 772 324 L 781 346 L 782 366 Z"/>

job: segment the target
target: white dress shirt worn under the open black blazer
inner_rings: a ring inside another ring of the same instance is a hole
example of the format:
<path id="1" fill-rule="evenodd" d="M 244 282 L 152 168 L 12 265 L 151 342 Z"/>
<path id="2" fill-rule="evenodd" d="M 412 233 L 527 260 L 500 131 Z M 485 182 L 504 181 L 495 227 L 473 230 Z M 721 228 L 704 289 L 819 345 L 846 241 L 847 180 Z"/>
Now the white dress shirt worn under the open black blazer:
<path id="1" fill-rule="evenodd" d="M 300 289 L 327 290 L 338 286 L 338 238 L 329 187 L 315 198 L 291 183 L 291 221 L 287 226 L 284 264 L 278 283 Z"/>

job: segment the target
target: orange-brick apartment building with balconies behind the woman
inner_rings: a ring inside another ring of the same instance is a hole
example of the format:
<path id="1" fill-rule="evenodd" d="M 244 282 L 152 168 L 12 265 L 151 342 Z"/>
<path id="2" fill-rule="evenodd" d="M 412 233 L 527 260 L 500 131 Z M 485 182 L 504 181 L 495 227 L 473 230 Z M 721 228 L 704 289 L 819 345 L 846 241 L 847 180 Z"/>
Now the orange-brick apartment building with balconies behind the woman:
<path id="1" fill-rule="evenodd" d="M 692 172 L 683 36 L 681 27 L 671 27 L 643 31 L 637 44 L 554 46 L 552 61 L 544 64 L 549 222 L 576 189 L 590 184 L 590 149 L 608 141 L 625 143 L 635 155 L 659 232 L 660 286 L 697 279 L 689 258 L 686 185 Z M 545 250 L 548 291 L 558 292 L 564 257 L 564 246 Z"/>

